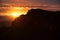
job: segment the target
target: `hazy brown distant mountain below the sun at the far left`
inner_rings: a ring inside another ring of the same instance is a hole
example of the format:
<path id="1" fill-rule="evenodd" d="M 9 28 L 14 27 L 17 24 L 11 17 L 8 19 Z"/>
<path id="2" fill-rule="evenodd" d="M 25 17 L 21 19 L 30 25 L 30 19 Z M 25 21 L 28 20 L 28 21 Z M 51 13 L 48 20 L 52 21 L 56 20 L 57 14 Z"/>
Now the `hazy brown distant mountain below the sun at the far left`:
<path id="1" fill-rule="evenodd" d="M 0 16 L 0 28 L 1 27 L 10 27 L 12 19 L 9 16 Z"/>

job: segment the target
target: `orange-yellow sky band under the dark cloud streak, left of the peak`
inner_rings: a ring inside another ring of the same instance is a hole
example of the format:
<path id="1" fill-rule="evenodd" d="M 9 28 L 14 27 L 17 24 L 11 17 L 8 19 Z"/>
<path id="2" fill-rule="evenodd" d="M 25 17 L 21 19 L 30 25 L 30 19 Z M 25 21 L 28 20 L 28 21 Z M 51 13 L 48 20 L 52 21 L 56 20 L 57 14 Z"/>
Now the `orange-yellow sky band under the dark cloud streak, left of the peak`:
<path id="1" fill-rule="evenodd" d="M 28 7 L 2 7 L 3 10 L 0 13 L 0 16 L 8 16 L 11 20 L 19 17 L 20 15 L 25 15 L 28 12 Z"/>

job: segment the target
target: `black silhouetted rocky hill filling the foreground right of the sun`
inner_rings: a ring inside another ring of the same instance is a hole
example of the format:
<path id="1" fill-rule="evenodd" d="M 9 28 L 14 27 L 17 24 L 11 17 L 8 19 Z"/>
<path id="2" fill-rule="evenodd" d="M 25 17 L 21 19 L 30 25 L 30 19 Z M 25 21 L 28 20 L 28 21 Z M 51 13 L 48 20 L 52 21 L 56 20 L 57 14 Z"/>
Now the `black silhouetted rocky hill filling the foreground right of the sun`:
<path id="1" fill-rule="evenodd" d="M 56 40 L 59 13 L 31 9 L 27 15 L 21 15 L 12 23 L 14 29 L 7 33 L 7 37 L 9 40 Z"/>

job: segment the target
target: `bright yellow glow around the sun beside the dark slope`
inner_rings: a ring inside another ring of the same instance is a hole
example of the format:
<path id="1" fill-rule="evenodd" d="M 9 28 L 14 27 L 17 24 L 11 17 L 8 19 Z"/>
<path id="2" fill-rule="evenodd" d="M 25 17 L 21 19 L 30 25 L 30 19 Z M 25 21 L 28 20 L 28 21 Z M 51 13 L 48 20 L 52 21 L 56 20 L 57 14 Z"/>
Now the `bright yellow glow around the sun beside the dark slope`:
<path id="1" fill-rule="evenodd" d="M 19 17 L 20 15 L 25 15 L 27 14 L 27 9 L 26 8 L 20 8 L 20 7 L 11 7 L 7 12 L 6 12 L 6 15 L 7 16 L 11 16 L 13 17 L 14 19 Z"/>

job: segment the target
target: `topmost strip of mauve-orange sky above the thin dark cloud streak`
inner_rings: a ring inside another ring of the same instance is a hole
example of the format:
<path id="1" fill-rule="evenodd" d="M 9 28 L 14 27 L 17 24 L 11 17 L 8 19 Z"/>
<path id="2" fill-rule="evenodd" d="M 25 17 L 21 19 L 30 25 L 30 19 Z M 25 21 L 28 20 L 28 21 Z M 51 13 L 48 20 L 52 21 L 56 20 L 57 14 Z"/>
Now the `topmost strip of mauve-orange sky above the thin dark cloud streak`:
<path id="1" fill-rule="evenodd" d="M 3 4 L 18 4 L 18 5 L 40 5 L 40 4 L 50 4 L 50 5 L 60 5 L 60 0 L 0 0 Z"/>

